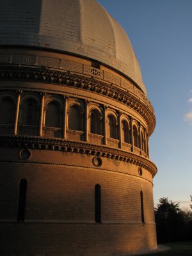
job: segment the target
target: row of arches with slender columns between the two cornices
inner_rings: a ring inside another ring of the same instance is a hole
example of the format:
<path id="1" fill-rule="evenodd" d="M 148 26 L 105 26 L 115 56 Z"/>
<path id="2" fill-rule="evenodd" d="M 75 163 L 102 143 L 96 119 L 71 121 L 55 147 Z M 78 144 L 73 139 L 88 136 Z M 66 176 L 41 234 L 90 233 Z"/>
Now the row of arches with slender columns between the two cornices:
<path id="1" fill-rule="evenodd" d="M 64 138 L 148 157 L 148 134 L 135 118 L 96 102 L 45 93 L 1 93 L 1 134 Z"/>

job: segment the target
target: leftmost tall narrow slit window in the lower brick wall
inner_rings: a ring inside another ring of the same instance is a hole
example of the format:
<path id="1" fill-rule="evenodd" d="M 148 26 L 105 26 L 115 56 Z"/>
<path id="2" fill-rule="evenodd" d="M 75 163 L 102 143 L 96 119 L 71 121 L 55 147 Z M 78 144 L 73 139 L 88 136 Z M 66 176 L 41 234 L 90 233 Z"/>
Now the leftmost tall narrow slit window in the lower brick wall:
<path id="1" fill-rule="evenodd" d="M 19 183 L 19 198 L 17 207 L 17 221 L 25 221 L 26 212 L 26 194 L 27 194 L 27 180 L 22 179 Z"/>

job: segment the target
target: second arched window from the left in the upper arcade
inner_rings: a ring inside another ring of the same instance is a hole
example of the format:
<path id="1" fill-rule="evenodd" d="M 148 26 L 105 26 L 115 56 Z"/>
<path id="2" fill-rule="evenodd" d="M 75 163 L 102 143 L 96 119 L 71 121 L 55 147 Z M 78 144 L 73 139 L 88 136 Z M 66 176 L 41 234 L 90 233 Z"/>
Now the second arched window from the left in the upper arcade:
<path id="1" fill-rule="evenodd" d="M 39 111 L 36 101 L 28 99 L 24 102 L 21 111 L 20 124 L 37 125 L 39 120 Z"/>

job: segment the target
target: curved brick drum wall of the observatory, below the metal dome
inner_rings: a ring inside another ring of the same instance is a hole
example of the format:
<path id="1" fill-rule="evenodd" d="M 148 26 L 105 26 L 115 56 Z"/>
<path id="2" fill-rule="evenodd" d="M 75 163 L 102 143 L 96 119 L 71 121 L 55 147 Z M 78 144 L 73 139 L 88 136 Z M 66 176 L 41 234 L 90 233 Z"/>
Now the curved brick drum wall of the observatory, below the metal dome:
<path id="1" fill-rule="evenodd" d="M 1 60 L 2 56 L 7 59 L 1 61 L 1 108 L 13 103 L 12 123 L 0 125 L 2 255 L 110 255 L 156 248 L 156 166 L 148 159 L 155 119 L 148 99 L 113 70 L 95 68 L 92 61 L 72 55 L 1 48 Z M 65 61 L 66 69 L 24 63 L 30 56 L 49 66 Z M 33 102 L 36 114 L 26 114 Z M 51 102 L 60 108 L 58 125 L 52 124 L 58 127 L 49 125 Z M 79 131 L 73 129 L 74 119 L 69 120 L 72 106 L 79 111 Z M 94 131 L 96 112 L 99 126 Z M 36 121 L 30 124 L 34 115 Z M 112 135 L 109 116 L 115 120 Z M 19 217 L 23 179 L 26 205 L 24 217 Z"/>

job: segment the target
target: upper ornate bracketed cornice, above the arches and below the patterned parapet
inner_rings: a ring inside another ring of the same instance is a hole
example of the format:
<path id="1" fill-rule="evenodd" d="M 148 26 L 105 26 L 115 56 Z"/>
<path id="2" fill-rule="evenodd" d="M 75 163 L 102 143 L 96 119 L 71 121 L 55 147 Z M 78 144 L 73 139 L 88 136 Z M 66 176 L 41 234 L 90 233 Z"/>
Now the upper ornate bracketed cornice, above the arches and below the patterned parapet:
<path id="1" fill-rule="evenodd" d="M 89 90 L 94 93 L 105 95 L 129 106 L 139 113 L 147 122 L 149 136 L 154 131 L 156 118 L 154 110 L 149 100 L 143 100 L 139 95 L 132 92 L 125 92 L 115 86 L 115 84 L 104 83 L 93 77 L 86 77 L 83 74 L 72 74 L 69 71 L 53 71 L 43 68 L 24 68 L 24 67 L 2 67 L 0 69 L 1 81 L 29 81 L 36 83 L 51 83 L 61 86 L 71 86 Z M 0 86 L 1 88 L 1 86 Z M 142 93 L 141 93 L 142 94 Z"/>

